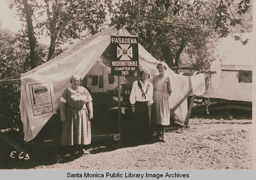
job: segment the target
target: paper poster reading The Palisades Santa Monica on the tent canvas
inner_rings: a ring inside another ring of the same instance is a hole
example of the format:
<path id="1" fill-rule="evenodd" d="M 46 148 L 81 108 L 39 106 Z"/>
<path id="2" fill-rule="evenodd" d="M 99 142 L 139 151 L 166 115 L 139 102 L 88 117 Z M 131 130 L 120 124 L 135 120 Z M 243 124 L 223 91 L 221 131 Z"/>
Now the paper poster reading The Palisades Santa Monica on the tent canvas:
<path id="1" fill-rule="evenodd" d="M 26 84 L 28 114 L 30 119 L 52 115 L 56 112 L 52 81 L 28 82 Z"/>

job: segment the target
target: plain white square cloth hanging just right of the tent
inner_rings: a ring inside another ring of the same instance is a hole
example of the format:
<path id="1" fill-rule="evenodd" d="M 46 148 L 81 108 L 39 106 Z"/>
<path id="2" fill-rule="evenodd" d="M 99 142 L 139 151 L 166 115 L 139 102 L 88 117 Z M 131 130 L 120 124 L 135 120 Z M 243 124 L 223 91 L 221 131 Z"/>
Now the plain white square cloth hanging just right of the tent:
<path id="1" fill-rule="evenodd" d="M 190 76 L 193 94 L 202 95 L 205 92 L 204 73 Z"/>

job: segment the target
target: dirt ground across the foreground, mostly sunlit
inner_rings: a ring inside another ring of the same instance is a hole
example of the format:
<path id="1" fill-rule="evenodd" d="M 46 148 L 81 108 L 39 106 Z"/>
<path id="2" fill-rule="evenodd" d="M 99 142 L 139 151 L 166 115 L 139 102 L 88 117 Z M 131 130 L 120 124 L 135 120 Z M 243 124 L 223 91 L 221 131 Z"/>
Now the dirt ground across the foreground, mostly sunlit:
<path id="1" fill-rule="evenodd" d="M 251 122 L 192 118 L 189 128 L 167 131 L 164 143 L 154 139 L 98 141 L 88 146 L 88 155 L 68 154 L 61 147 L 40 148 L 33 152 L 38 155 L 36 163 L 4 157 L 0 168 L 251 169 Z"/>

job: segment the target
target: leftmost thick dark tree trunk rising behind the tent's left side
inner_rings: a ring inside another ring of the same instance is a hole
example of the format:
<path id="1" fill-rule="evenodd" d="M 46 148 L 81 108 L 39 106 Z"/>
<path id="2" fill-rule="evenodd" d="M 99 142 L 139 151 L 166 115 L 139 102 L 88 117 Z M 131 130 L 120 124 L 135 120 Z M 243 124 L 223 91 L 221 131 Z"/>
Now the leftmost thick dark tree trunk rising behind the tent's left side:
<path id="1" fill-rule="evenodd" d="M 30 47 L 30 64 L 31 68 L 36 67 L 36 53 L 35 53 L 35 46 L 36 46 L 36 38 L 35 38 L 35 33 L 34 33 L 34 28 L 33 28 L 33 23 L 32 23 L 32 9 L 28 4 L 28 0 L 22 0 L 23 6 L 24 6 L 24 12 L 26 15 L 26 20 L 27 20 L 27 36 L 29 38 L 29 47 Z"/>

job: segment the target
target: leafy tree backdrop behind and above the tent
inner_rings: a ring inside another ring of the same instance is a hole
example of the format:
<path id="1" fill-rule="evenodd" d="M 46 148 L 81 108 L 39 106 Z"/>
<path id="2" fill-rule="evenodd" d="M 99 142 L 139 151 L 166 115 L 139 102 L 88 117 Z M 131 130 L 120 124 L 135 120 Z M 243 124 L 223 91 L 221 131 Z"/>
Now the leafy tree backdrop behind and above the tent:
<path id="1" fill-rule="evenodd" d="M 61 44 L 72 44 L 115 23 L 138 35 L 141 45 L 169 67 L 185 61 L 203 72 L 220 59 L 215 54 L 218 38 L 252 28 L 252 0 L 8 2 L 24 23 L 16 34 L 0 26 L 0 80 L 19 79 L 20 74 L 61 53 Z M 43 35 L 50 37 L 49 46 L 37 42 Z M 248 42 L 239 36 L 234 40 Z M 21 125 L 20 81 L 0 82 L 0 92 L 0 114 Z M 10 126 L 0 119 L 1 128 Z"/>

